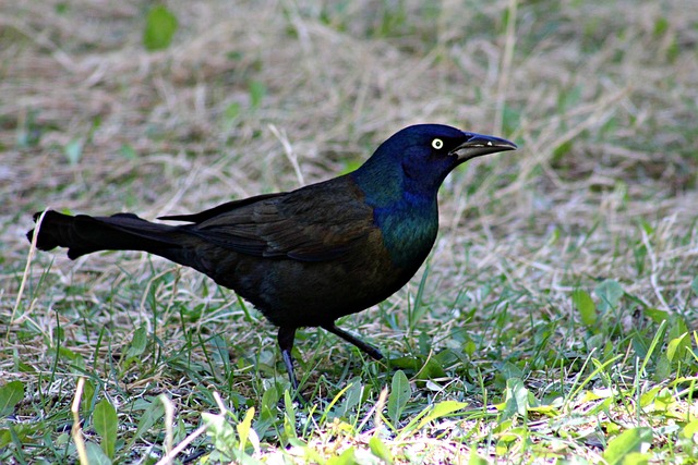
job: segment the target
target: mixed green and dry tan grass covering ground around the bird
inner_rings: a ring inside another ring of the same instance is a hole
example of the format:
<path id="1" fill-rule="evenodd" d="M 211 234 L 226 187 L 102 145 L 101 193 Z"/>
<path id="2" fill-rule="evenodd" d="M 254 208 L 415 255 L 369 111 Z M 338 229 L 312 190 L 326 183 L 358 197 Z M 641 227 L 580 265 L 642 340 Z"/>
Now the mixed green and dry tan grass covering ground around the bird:
<path id="1" fill-rule="evenodd" d="M 330 3 L 3 8 L 0 462 L 695 462 L 693 4 Z M 520 149 L 453 173 L 429 265 L 340 321 L 385 362 L 299 332 L 310 405 L 232 292 L 24 238 L 324 180 L 428 121 Z"/>

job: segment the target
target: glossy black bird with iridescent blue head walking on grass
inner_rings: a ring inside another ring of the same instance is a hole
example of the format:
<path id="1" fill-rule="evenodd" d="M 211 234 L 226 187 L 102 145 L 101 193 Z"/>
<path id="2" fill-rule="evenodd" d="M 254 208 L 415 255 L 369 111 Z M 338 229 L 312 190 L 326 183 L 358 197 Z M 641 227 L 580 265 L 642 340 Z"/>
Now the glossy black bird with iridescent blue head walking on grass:
<path id="1" fill-rule="evenodd" d="M 290 192 L 262 194 L 193 215 L 151 222 L 34 215 L 36 247 L 68 248 L 75 259 L 99 250 L 141 250 L 191 267 L 249 301 L 278 327 L 289 381 L 296 332 L 320 327 L 374 359 L 383 354 L 336 320 L 400 290 L 426 259 L 438 231 L 437 193 L 446 175 L 476 157 L 517 146 L 443 124 L 405 127 L 358 169 Z"/>

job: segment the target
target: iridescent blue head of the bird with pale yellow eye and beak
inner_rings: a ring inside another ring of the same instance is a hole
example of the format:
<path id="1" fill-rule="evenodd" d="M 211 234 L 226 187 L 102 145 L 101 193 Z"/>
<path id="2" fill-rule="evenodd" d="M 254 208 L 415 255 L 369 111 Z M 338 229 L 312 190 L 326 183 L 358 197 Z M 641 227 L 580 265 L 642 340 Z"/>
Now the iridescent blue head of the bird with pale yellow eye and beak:
<path id="1" fill-rule="evenodd" d="M 406 127 L 381 144 L 353 176 L 380 204 L 410 193 L 435 197 L 446 175 L 472 158 L 515 150 L 509 140 L 442 124 Z"/>

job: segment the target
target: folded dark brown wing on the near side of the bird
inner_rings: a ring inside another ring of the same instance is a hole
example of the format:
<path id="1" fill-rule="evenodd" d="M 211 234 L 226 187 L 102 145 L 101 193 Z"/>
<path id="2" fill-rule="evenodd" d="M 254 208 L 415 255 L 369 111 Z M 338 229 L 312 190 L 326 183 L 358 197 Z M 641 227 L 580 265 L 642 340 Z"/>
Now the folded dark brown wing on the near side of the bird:
<path id="1" fill-rule="evenodd" d="M 226 205 L 207 210 L 216 215 L 188 229 L 209 243 L 258 257 L 330 260 L 375 229 L 372 207 L 347 178 Z M 190 218 L 200 220 L 204 213 Z"/>

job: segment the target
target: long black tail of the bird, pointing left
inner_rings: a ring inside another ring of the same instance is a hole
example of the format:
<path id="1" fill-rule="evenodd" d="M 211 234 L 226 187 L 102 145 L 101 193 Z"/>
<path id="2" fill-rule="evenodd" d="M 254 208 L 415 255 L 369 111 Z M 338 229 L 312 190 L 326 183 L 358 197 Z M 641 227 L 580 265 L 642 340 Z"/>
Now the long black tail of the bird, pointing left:
<path id="1" fill-rule="evenodd" d="M 34 221 L 40 216 L 34 215 Z M 27 232 L 29 242 L 35 231 Z M 152 223 L 133 213 L 71 217 L 48 210 L 38 230 L 36 246 L 41 250 L 67 247 L 71 259 L 99 250 L 143 250 L 173 259 L 172 254 L 181 250 L 179 235 L 177 227 Z"/>

